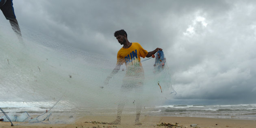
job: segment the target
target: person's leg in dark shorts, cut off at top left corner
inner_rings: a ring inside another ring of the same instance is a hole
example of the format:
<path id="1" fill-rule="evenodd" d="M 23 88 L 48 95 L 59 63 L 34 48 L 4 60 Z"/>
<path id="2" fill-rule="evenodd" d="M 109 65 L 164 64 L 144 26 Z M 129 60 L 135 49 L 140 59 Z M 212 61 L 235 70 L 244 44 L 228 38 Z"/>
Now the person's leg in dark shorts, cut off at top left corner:
<path id="1" fill-rule="evenodd" d="M 0 0 L 0 9 L 2 10 L 6 19 L 9 20 L 13 31 L 16 33 L 20 41 L 22 41 L 20 27 L 14 14 L 13 0 Z"/>

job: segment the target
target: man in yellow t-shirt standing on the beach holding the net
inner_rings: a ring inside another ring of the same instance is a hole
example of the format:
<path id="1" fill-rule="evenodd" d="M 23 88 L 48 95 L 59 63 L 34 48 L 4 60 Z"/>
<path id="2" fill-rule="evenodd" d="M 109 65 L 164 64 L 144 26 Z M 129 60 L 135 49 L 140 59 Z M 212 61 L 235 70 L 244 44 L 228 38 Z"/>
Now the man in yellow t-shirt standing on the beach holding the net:
<path id="1" fill-rule="evenodd" d="M 123 45 L 123 47 L 117 53 L 117 65 L 113 72 L 106 78 L 105 84 L 108 84 L 110 78 L 112 78 L 120 69 L 121 65 L 126 65 L 126 75 L 121 85 L 122 96 L 126 97 L 127 92 L 135 89 L 136 94 L 140 94 L 143 91 L 144 71 L 140 62 L 140 57 L 151 57 L 161 48 L 156 48 L 152 52 L 144 50 L 139 43 L 130 43 L 127 39 L 127 33 L 124 30 L 118 30 L 114 33 L 117 41 Z M 113 124 L 121 124 L 121 114 L 124 108 L 126 99 L 121 100 L 117 107 L 117 119 L 113 121 Z M 141 104 L 139 102 L 139 96 L 137 96 L 136 102 L 136 119 L 135 124 L 139 123 L 139 117 L 141 114 Z"/>

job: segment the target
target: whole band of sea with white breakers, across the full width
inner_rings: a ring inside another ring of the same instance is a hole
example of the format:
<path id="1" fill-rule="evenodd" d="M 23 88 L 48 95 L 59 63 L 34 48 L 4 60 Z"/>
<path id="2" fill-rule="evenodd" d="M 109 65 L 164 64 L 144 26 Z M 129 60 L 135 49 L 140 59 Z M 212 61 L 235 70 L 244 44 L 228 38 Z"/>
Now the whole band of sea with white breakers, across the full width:
<path id="1" fill-rule="evenodd" d="M 61 102 L 61 101 L 60 101 Z M 41 107 L 43 102 L 23 103 L 23 102 L 0 102 L 0 106 L 6 113 L 24 113 L 31 115 L 41 115 L 49 108 Z M 20 107 L 19 107 L 20 106 Z M 115 115 L 116 107 L 113 108 L 52 108 L 53 115 Z M 125 107 L 125 115 L 135 115 L 135 107 Z M 143 107 L 142 114 L 146 116 L 172 116 L 172 117 L 206 117 L 221 119 L 248 119 L 256 120 L 256 104 L 236 104 L 236 105 L 165 105 Z M 3 116 L 1 113 L 0 116 Z"/>

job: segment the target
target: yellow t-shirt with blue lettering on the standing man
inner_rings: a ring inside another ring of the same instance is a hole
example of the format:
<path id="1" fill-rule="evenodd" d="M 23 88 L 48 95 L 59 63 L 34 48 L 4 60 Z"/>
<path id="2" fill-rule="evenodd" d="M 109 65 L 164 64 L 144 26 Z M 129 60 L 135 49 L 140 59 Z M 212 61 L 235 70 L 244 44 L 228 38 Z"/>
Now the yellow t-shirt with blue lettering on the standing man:
<path id="1" fill-rule="evenodd" d="M 139 43 L 132 43 L 129 48 L 121 48 L 117 52 L 117 64 L 123 65 L 125 63 L 127 71 L 141 71 L 141 58 L 145 58 L 148 54 Z M 142 69 L 143 71 L 143 69 Z"/>

